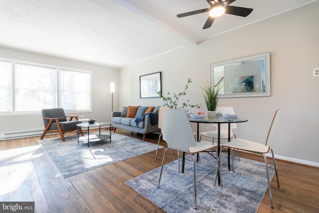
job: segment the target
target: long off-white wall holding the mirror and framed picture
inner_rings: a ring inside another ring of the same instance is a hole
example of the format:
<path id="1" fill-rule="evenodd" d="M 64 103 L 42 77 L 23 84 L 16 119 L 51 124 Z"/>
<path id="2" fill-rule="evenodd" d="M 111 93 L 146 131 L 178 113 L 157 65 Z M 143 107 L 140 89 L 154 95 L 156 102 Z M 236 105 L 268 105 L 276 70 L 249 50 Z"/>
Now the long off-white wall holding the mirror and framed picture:
<path id="1" fill-rule="evenodd" d="M 249 119 L 238 125 L 237 137 L 264 143 L 272 116 L 282 108 L 275 154 L 290 161 L 319 166 L 319 1 L 248 26 L 133 64 L 120 70 L 122 105 L 162 105 L 160 98 L 140 99 L 139 76 L 162 72 L 163 94 L 181 92 L 188 77 L 187 99 L 206 110 L 199 86 L 210 79 L 210 64 L 254 54 L 271 53 L 271 96 L 224 98 Z M 212 26 L 214 27 L 214 25 Z M 182 101 L 181 101 L 182 102 Z M 196 110 L 191 110 L 196 111 Z M 208 129 L 200 126 L 200 131 Z"/>

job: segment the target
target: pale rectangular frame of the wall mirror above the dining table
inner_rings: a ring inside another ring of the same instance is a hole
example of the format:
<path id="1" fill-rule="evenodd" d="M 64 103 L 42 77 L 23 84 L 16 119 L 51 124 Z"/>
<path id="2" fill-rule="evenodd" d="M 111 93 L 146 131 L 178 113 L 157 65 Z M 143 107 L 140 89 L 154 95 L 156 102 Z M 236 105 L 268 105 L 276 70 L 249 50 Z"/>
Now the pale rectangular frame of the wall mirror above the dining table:
<path id="1" fill-rule="evenodd" d="M 258 97 L 258 96 L 270 96 L 271 95 L 271 89 L 270 89 L 270 52 L 211 64 L 210 65 L 211 84 L 212 84 L 212 86 L 214 86 L 214 85 L 216 85 L 216 83 L 218 83 L 218 82 L 214 81 L 214 67 L 222 66 L 222 65 L 229 65 L 229 64 L 239 63 L 239 62 L 244 62 L 244 61 L 255 60 L 258 58 L 265 59 L 265 92 L 241 92 L 241 93 L 231 93 L 231 94 L 220 94 L 220 98 Z"/>

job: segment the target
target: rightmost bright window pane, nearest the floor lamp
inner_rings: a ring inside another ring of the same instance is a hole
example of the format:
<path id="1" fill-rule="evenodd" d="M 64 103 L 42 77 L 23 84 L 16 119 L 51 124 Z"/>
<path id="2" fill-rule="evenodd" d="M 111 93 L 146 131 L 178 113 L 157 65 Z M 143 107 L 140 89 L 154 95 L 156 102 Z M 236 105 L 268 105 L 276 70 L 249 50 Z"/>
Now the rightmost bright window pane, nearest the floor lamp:
<path id="1" fill-rule="evenodd" d="M 68 110 L 90 109 L 90 74 L 60 70 L 60 106 Z"/>

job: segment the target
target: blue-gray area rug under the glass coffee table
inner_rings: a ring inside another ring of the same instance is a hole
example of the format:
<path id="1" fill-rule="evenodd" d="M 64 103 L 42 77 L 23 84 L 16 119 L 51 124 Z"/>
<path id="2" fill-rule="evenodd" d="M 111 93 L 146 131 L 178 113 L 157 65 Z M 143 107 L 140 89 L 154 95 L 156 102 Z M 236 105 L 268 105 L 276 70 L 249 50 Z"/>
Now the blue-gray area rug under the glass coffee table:
<path id="1" fill-rule="evenodd" d="M 110 132 L 101 132 L 110 134 Z M 38 140 L 45 152 L 59 168 L 64 178 L 71 177 L 108 164 L 142 155 L 157 149 L 156 144 L 121 134 L 112 133 L 112 140 L 87 143 L 77 142 L 77 136 Z M 162 146 L 160 146 L 162 148 Z"/>

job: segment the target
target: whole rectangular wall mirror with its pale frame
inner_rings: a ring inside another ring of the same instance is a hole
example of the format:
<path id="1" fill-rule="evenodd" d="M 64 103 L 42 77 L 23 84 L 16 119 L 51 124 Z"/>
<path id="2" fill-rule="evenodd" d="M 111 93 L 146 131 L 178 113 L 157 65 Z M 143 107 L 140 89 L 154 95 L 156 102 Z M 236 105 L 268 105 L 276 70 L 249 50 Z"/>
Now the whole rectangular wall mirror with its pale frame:
<path id="1" fill-rule="evenodd" d="M 221 98 L 270 96 L 270 53 L 211 64 L 212 86 L 219 81 Z"/>

